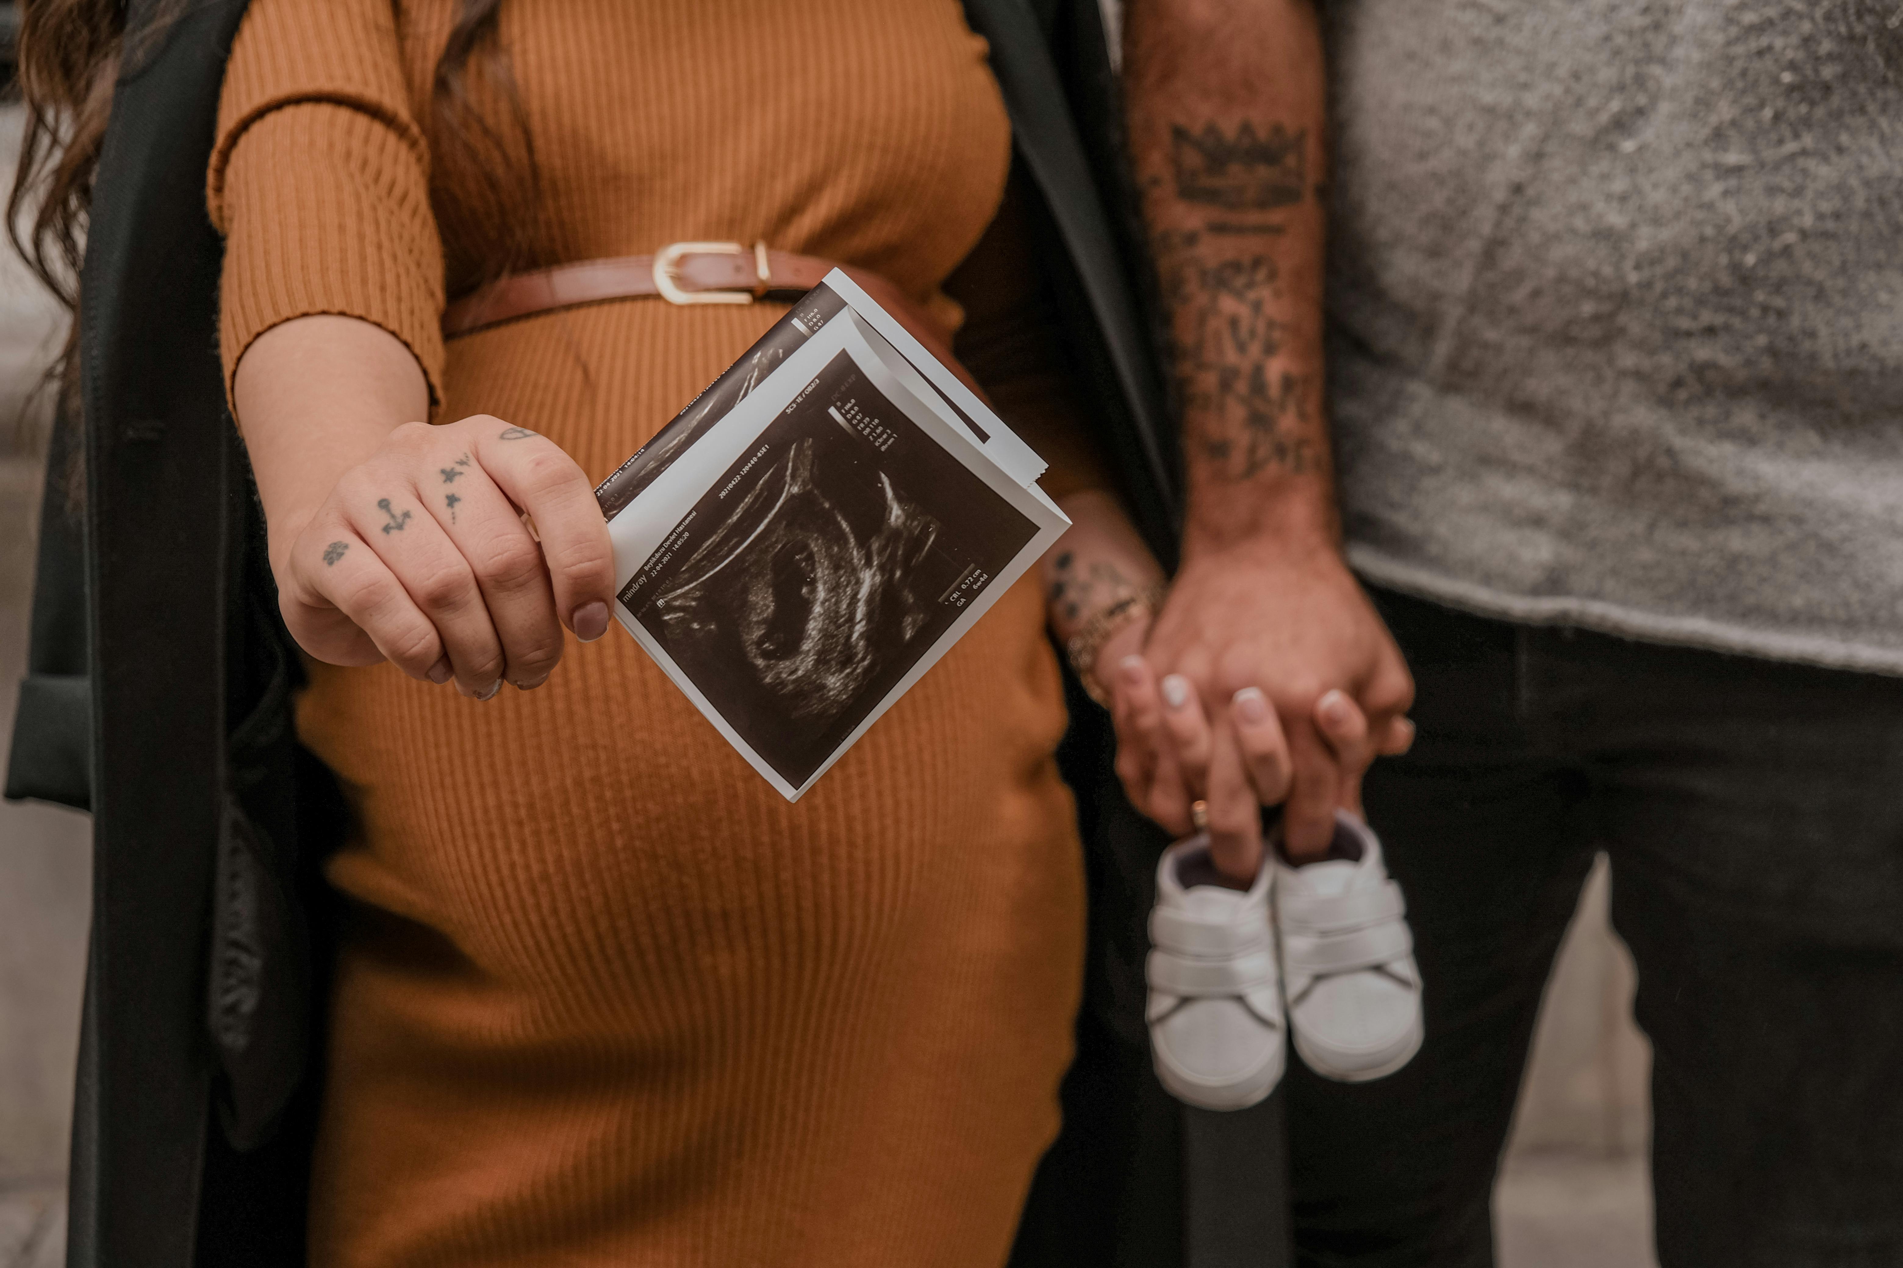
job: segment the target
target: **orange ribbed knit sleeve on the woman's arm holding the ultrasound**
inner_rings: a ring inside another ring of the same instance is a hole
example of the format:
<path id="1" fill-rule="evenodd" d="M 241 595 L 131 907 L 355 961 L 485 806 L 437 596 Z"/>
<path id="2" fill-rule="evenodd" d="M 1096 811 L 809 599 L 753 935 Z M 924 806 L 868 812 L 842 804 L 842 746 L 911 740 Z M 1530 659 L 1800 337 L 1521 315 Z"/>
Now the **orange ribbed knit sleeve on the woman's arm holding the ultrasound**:
<path id="1" fill-rule="evenodd" d="M 270 327 L 371 321 L 441 399 L 443 249 L 388 0 L 257 0 L 232 46 L 207 173 L 226 236 L 226 388 Z"/>

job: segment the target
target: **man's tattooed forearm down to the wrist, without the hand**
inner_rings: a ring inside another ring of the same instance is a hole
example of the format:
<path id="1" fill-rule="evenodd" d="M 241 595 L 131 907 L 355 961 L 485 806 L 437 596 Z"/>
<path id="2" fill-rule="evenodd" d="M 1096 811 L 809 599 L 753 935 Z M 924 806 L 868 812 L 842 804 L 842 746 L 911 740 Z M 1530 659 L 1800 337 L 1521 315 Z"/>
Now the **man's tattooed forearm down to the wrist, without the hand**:
<path id="1" fill-rule="evenodd" d="M 1168 321 L 1189 542 L 1254 536 L 1286 515 L 1334 532 L 1317 17 L 1313 0 L 1243 8 L 1130 6 L 1130 148 Z"/>

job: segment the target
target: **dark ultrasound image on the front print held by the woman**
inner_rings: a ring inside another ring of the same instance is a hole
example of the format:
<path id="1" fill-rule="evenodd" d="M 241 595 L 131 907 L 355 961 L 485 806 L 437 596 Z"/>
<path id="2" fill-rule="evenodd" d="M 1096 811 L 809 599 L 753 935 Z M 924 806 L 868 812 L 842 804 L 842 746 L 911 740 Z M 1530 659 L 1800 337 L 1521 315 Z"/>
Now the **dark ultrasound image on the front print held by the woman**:
<path id="1" fill-rule="evenodd" d="M 618 597 L 799 787 L 1039 528 L 839 352 Z"/>

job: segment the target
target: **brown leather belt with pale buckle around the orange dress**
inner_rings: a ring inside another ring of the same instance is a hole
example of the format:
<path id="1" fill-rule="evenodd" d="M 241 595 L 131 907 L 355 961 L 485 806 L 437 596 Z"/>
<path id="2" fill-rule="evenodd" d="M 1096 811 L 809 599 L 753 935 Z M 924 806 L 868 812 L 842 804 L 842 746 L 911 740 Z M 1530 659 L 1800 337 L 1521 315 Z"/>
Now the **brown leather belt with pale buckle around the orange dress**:
<path id="1" fill-rule="evenodd" d="M 510 274 L 443 310 L 443 336 L 552 308 L 658 295 L 670 304 L 752 304 L 767 295 L 805 295 L 835 268 L 832 260 L 769 251 L 755 241 L 676 241 L 655 255 L 556 264 Z"/>

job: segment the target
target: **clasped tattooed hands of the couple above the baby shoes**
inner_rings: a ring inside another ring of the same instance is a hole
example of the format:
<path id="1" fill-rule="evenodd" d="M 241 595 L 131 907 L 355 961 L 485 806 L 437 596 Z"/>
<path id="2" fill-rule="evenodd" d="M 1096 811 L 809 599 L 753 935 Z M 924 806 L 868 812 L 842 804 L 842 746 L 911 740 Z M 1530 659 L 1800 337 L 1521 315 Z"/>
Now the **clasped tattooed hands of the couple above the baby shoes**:
<path id="1" fill-rule="evenodd" d="M 1098 662 L 1111 686 L 1117 774 L 1130 802 L 1186 835 L 1208 808 L 1210 854 L 1235 880 L 1262 861 L 1260 806 L 1286 800 L 1294 857 L 1361 810 L 1378 755 L 1404 753 L 1414 682 L 1332 548 L 1191 557 L 1140 658 Z"/>

